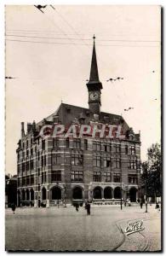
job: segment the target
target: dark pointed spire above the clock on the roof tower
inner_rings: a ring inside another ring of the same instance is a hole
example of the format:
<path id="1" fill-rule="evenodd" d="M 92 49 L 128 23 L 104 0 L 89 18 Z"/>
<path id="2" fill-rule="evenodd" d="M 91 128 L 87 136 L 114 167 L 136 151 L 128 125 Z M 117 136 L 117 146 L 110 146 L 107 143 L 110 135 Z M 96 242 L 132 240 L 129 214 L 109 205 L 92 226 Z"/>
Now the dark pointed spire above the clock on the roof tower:
<path id="1" fill-rule="evenodd" d="M 95 53 L 95 36 L 93 37 L 93 39 L 94 39 L 94 47 L 93 47 L 89 82 L 99 82 L 99 74 L 98 74 L 98 67 L 97 67 L 97 60 L 96 60 L 96 53 Z"/>

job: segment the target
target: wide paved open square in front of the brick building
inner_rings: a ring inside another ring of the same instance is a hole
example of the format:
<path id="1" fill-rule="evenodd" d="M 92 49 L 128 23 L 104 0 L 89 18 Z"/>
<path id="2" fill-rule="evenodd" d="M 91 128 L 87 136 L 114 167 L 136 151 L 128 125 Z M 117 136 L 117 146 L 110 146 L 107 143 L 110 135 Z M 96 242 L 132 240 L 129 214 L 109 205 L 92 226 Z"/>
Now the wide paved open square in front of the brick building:
<path id="1" fill-rule="evenodd" d="M 144 230 L 126 236 L 129 221 L 143 220 Z M 158 251 L 161 212 L 155 206 L 92 206 L 87 216 L 72 206 L 6 209 L 6 250 Z"/>

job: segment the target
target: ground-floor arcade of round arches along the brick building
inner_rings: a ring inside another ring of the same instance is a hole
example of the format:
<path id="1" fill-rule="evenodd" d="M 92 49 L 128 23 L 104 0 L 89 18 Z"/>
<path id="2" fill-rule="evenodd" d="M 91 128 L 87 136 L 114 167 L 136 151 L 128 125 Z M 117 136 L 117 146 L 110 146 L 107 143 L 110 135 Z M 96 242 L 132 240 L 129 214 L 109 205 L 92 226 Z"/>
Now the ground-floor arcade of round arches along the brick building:
<path id="1" fill-rule="evenodd" d="M 46 207 L 59 203 L 72 203 L 73 201 L 93 202 L 120 202 L 129 199 L 137 201 L 138 186 L 126 186 L 121 183 L 90 183 L 88 185 L 75 184 L 50 184 L 41 186 L 40 191 L 35 187 L 19 188 L 17 191 L 17 206 Z"/>

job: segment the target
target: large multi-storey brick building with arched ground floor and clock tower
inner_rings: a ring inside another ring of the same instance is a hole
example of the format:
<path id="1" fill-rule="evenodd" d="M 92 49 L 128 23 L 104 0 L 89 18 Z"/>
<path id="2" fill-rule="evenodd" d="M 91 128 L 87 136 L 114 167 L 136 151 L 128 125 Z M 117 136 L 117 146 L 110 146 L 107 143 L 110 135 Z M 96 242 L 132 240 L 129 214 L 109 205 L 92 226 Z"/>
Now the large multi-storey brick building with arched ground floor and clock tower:
<path id="1" fill-rule="evenodd" d="M 18 143 L 18 206 L 47 207 L 55 203 L 89 200 L 118 203 L 136 201 L 140 187 L 140 134 L 122 116 L 100 111 L 101 90 L 95 43 L 89 82 L 89 108 L 61 103 L 39 123 L 21 123 Z M 123 139 L 83 136 L 41 137 L 43 125 L 121 125 Z"/>

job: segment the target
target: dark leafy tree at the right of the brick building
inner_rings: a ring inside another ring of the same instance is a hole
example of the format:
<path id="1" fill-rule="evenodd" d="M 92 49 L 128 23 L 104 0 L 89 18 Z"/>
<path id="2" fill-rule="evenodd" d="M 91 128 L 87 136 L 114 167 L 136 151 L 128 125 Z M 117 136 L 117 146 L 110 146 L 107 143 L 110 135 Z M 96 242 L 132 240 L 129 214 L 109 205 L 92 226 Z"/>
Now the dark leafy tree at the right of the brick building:
<path id="1" fill-rule="evenodd" d="M 158 143 L 152 144 L 147 149 L 147 160 L 142 162 L 142 180 L 146 182 L 148 196 L 154 196 L 157 202 L 157 196 L 162 195 L 162 157 L 161 147 Z"/>

